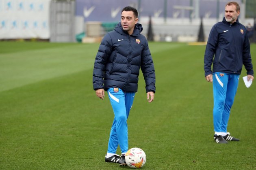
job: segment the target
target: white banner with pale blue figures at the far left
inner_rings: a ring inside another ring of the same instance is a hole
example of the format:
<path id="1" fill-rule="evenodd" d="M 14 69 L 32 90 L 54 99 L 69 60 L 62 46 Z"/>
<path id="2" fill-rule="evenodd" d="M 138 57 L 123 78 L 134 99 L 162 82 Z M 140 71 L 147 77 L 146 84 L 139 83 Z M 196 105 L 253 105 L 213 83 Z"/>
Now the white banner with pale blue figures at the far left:
<path id="1" fill-rule="evenodd" d="M 50 38 L 51 0 L 0 0 L 0 39 Z"/>

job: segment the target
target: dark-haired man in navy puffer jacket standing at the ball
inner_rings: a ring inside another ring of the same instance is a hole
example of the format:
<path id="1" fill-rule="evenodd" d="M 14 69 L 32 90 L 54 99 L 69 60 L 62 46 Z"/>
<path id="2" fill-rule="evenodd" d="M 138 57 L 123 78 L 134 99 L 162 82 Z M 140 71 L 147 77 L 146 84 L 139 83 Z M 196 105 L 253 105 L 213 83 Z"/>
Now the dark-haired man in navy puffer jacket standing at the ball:
<path id="1" fill-rule="evenodd" d="M 148 102 L 154 100 L 156 91 L 153 60 L 148 42 L 140 34 L 143 28 L 137 21 L 138 12 L 135 8 L 123 8 L 121 22 L 102 39 L 93 69 L 93 89 L 102 100 L 104 91 L 107 91 L 115 115 L 105 161 L 120 165 L 126 165 L 127 118 L 138 90 L 140 68 L 145 79 Z M 116 154 L 118 144 L 120 157 Z"/>

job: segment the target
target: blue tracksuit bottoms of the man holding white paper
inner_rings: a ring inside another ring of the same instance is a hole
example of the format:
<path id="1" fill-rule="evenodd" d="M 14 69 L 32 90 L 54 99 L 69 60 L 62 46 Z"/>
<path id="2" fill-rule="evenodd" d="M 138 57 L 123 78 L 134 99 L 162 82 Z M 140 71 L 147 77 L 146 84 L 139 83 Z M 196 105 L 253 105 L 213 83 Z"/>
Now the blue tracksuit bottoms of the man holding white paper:
<path id="1" fill-rule="evenodd" d="M 213 73 L 213 126 L 216 132 L 227 132 L 230 109 L 239 82 L 239 74 Z"/>

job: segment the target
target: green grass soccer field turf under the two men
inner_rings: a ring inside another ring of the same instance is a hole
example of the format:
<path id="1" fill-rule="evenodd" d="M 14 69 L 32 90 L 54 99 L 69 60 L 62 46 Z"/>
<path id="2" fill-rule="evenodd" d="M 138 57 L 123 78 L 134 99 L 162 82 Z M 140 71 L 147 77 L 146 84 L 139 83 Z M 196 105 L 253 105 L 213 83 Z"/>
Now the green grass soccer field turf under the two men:
<path id="1" fill-rule="evenodd" d="M 213 90 L 204 78 L 205 46 L 150 43 L 155 100 L 139 76 L 128 119 L 129 148 L 143 169 L 255 169 L 256 85 L 241 77 L 228 131 L 213 140 Z M 0 42 L 0 169 L 128 169 L 104 162 L 113 111 L 92 86 L 99 44 Z M 254 67 L 256 45 L 251 45 Z M 118 148 L 117 154 L 120 154 Z"/>

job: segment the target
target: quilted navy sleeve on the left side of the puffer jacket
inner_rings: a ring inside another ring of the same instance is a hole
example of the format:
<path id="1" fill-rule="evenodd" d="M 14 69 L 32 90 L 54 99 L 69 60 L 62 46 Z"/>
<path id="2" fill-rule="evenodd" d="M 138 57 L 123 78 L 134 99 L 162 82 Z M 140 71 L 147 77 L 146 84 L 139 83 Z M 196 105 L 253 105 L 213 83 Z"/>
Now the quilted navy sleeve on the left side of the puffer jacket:
<path id="1" fill-rule="evenodd" d="M 104 89 L 104 71 L 108 57 L 111 55 L 111 36 L 106 34 L 100 43 L 93 68 L 93 89 Z"/>

